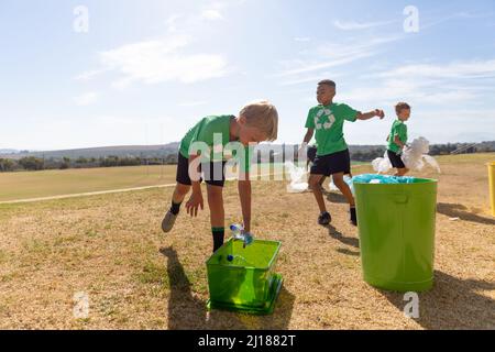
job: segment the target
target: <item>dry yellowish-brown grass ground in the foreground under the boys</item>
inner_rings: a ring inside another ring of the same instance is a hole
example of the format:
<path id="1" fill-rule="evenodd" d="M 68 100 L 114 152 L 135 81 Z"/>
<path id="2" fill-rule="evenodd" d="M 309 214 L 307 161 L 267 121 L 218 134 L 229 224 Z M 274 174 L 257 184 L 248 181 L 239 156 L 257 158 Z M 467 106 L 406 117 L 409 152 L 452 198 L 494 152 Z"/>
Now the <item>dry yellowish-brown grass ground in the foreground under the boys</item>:
<path id="1" fill-rule="evenodd" d="M 358 230 L 340 195 L 327 194 L 330 230 L 316 223 L 311 194 L 285 182 L 253 183 L 253 232 L 283 242 L 284 286 L 275 312 L 207 312 L 209 213 L 162 217 L 173 189 L 0 205 L 0 329 L 495 329 L 495 218 L 485 164 L 495 155 L 440 158 L 436 284 L 420 318 L 402 294 L 362 279 Z M 363 173 L 369 169 L 358 168 Z M 227 222 L 241 221 L 237 186 L 224 191 Z M 459 220 L 452 220 L 459 218 Z M 89 314 L 74 316 L 75 295 Z"/>

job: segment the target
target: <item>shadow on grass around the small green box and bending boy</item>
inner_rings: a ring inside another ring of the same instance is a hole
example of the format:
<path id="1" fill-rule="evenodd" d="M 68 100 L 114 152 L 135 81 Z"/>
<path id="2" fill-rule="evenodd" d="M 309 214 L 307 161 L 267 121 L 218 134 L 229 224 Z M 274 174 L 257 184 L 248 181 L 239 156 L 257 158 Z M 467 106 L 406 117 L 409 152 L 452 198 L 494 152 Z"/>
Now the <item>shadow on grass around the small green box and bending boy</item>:
<path id="1" fill-rule="evenodd" d="M 170 295 L 169 330 L 286 330 L 293 315 L 295 296 L 283 286 L 272 316 L 250 316 L 229 311 L 208 311 L 206 301 L 195 297 L 184 266 L 173 248 L 160 251 L 167 258 Z"/>

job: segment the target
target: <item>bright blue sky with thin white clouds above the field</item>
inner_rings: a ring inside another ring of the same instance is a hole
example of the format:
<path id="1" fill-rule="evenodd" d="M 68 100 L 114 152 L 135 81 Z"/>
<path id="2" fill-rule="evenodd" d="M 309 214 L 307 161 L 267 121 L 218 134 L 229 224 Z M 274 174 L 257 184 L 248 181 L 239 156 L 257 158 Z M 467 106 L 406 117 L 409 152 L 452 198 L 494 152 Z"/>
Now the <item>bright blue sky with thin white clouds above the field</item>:
<path id="1" fill-rule="evenodd" d="M 0 148 L 179 141 L 258 98 L 278 142 L 300 143 L 324 78 L 337 101 L 387 113 L 346 124 L 348 143 L 383 144 L 403 100 L 411 138 L 495 140 L 493 0 L 2 0 L 0 45 Z"/>

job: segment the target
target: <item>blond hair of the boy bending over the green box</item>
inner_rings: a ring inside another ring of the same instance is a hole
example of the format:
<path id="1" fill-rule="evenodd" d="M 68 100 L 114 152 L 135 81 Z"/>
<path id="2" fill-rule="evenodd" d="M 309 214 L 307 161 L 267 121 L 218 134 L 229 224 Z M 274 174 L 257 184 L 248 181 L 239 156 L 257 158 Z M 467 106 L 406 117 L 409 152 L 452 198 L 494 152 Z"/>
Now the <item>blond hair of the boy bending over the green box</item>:
<path id="1" fill-rule="evenodd" d="M 266 134 L 266 141 L 275 141 L 278 133 L 278 112 L 268 100 L 248 103 L 239 113 L 246 124 L 260 129 Z"/>

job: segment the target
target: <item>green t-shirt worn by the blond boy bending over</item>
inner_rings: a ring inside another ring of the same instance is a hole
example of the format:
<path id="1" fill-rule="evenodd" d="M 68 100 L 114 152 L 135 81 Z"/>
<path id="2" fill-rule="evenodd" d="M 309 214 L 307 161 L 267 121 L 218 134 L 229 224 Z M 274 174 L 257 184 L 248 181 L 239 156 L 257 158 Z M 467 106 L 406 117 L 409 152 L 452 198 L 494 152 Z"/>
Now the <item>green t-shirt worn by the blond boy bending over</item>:
<path id="1" fill-rule="evenodd" d="M 241 148 L 241 144 L 238 144 L 239 141 L 230 141 L 230 123 L 233 119 L 235 119 L 233 116 L 213 116 L 201 119 L 180 141 L 180 154 L 189 158 L 189 155 L 208 147 L 201 152 L 201 163 L 222 162 L 232 157 L 241 158 L 244 154 L 245 162 L 241 162 L 240 167 L 242 172 L 249 172 L 253 151 L 249 146 Z M 200 143 L 195 145 L 195 142 Z M 238 143 L 229 144 L 230 142 Z"/>

